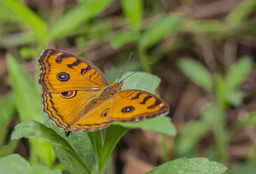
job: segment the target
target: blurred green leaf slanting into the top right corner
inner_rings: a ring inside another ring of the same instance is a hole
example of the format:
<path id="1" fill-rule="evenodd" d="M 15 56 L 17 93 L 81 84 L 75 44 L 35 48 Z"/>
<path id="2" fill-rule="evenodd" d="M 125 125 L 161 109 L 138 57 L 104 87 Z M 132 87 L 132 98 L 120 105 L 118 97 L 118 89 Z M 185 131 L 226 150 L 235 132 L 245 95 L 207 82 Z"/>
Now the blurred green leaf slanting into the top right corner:
<path id="1" fill-rule="evenodd" d="M 226 17 L 227 23 L 231 27 L 237 27 L 244 22 L 244 19 L 251 14 L 256 8 L 255 0 L 244 0 L 236 9 L 232 10 Z"/>

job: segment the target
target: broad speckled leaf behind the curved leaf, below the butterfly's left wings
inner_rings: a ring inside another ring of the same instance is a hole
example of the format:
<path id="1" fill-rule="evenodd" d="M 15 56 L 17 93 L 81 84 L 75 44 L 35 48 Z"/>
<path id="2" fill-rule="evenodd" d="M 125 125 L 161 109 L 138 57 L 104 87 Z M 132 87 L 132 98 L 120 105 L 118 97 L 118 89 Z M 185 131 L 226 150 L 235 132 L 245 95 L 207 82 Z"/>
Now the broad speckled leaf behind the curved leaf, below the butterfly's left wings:
<path id="1" fill-rule="evenodd" d="M 64 134 L 64 130 L 58 128 L 53 121 L 49 120 L 46 114 L 44 114 L 44 125 L 46 125 L 49 128 L 52 128 L 62 138 L 67 140 L 67 142 L 76 151 L 76 153 L 79 155 L 79 157 L 87 166 L 87 168 L 89 168 L 89 170 L 92 169 L 94 154 L 93 154 L 93 147 L 90 143 L 90 139 L 87 136 L 87 133 L 73 131 L 72 133 L 70 133 L 70 136 L 66 137 Z M 53 149 L 57 157 L 67 167 L 70 173 L 82 174 L 84 172 L 84 169 L 81 168 L 81 165 L 78 165 L 76 159 L 74 159 L 70 154 L 68 154 L 68 152 L 60 148 L 55 148 L 54 146 L 53 146 Z"/>

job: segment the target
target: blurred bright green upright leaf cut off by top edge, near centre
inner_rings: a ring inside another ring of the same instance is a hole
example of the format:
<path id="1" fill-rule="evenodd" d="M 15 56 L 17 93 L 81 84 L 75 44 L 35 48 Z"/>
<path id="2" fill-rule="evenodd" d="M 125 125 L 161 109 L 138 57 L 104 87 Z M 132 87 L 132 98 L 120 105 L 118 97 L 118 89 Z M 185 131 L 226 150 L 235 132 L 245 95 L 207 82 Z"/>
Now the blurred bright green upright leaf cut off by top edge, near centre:
<path id="1" fill-rule="evenodd" d="M 122 10 L 134 32 L 139 31 L 143 12 L 143 0 L 121 0 Z"/>

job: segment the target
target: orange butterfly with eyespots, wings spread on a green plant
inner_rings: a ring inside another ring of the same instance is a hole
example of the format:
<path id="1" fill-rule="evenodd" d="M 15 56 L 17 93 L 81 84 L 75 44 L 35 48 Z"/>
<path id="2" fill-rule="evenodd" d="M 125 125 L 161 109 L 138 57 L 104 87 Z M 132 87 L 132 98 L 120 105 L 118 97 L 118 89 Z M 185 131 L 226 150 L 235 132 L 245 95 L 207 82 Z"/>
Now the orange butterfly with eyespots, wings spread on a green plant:
<path id="1" fill-rule="evenodd" d="M 121 90 L 124 81 L 109 85 L 97 67 L 77 55 L 45 49 L 38 62 L 43 110 L 66 136 L 169 113 L 168 104 L 154 94 Z"/>

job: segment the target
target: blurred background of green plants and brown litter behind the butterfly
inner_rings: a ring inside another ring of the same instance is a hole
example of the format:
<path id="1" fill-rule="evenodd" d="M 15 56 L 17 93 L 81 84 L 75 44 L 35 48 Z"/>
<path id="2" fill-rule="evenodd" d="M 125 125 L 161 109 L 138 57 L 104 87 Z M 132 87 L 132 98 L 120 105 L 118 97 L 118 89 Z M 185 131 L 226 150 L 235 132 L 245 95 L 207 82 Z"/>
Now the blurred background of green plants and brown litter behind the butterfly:
<path id="1" fill-rule="evenodd" d="M 112 83 L 133 52 L 125 71 L 151 62 L 144 71 L 161 78 L 157 95 L 177 135 L 129 131 L 106 172 L 144 174 L 180 157 L 207 157 L 230 174 L 254 174 L 255 12 L 255 0 L 0 0 L 0 157 L 32 153 L 27 139 L 10 140 L 17 123 L 32 119 L 24 108 L 34 108 L 34 98 L 23 79 L 16 80 L 26 89 L 11 87 L 19 69 L 8 56 L 37 84 L 42 50 L 62 49 Z M 21 93 L 28 99 L 17 101 Z M 31 105 L 17 104 L 24 100 Z"/>

